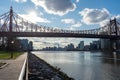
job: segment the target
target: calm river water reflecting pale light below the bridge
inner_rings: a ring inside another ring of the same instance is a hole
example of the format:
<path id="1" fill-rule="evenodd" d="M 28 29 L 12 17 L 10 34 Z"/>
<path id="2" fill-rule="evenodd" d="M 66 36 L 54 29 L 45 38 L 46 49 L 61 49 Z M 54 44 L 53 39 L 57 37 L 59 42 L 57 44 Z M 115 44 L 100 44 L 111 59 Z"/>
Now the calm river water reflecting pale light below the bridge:
<path id="1" fill-rule="evenodd" d="M 120 80 L 120 53 L 85 51 L 33 52 L 75 80 Z"/>

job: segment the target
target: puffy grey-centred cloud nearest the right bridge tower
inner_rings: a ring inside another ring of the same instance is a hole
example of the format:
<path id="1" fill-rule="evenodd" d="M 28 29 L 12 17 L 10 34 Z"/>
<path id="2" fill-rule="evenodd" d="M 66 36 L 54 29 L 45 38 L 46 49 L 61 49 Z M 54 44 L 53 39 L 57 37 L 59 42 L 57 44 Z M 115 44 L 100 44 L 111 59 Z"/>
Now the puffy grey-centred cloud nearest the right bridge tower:
<path id="1" fill-rule="evenodd" d="M 110 17 L 110 13 L 107 9 L 89 9 L 85 8 L 80 11 L 79 14 L 83 17 L 82 22 L 85 24 L 99 24 Z"/>

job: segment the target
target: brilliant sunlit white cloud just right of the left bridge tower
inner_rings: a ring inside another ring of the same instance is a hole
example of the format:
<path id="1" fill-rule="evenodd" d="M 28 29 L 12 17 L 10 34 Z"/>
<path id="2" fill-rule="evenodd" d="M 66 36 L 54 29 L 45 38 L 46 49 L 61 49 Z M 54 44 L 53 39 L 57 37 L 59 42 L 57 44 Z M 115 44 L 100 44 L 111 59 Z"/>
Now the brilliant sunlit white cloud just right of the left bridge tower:
<path id="1" fill-rule="evenodd" d="M 49 20 L 42 17 L 38 17 L 35 12 L 30 12 L 29 14 L 19 14 L 19 15 L 24 19 L 31 21 L 33 23 L 37 23 L 37 22 L 50 23 Z"/>

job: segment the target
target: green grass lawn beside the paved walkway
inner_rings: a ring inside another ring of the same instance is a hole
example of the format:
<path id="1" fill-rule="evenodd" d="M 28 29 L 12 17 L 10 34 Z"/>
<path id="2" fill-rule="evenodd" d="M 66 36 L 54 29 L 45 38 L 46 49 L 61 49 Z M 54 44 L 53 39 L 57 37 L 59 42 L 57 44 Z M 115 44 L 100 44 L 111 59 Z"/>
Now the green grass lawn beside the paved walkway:
<path id="1" fill-rule="evenodd" d="M 13 59 L 17 58 L 21 54 L 23 54 L 23 52 L 13 52 Z M 0 59 L 10 59 L 10 58 L 11 58 L 11 52 L 0 51 Z"/>

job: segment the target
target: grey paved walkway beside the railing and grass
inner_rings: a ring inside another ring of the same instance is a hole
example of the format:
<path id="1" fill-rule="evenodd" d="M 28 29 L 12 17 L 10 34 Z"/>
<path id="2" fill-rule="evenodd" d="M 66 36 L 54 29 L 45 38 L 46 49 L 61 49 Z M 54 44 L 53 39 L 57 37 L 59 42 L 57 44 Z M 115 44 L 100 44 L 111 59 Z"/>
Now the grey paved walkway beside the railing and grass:
<path id="1" fill-rule="evenodd" d="M 0 69 L 0 80 L 18 80 L 25 58 L 26 53 L 15 60 L 0 60 L 8 63 L 6 67 Z"/>

